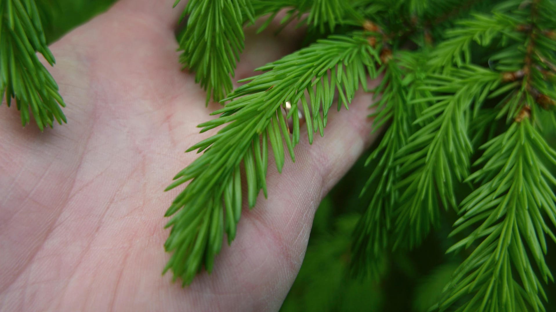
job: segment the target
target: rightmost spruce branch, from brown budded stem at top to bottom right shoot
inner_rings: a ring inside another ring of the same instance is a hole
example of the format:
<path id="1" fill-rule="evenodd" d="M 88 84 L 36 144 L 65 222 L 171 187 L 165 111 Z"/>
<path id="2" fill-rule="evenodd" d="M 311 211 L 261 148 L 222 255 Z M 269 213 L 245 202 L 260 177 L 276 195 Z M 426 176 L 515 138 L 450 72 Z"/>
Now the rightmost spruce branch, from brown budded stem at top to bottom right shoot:
<path id="1" fill-rule="evenodd" d="M 506 85 L 491 94 L 507 94 L 498 105 L 497 118 L 507 115 L 512 125 L 483 145 L 485 152 L 476 163 L 483 168 L 467 179 L 481 185 L 461 203 L 463 215 L 451 235 L 470 234 L 449 251 L 481 242 L 454 273 L 438 305 L 440 310 L 464 298 L 458 310 L 544 310 L 542 298 L 547 300 L 547 296 L 535 272 L 540 271 L 545 283 L 553 281 L 544 259 L 545 235 L 554 241 L 556 236 L 543 215 L 556 225 L 556 179 L 545 167 L 547 161 L 556 164 L 556 152 L 531 120 L 539 115 L 539 108 L 554 103 L 556 94 L 553 83 L 546 79 L 550 66 L 541 56 L 554 57 L 553 50 L 547 49 L 554 43 L 547 44 L 549 41 L 543 40 L 547 32 L 538 28 L 545 24 L 538 19 L 541 4 L 548 1 L 532 1 L 527 10 L 522 3 L 519 11 L 513 11 L 515 26 L 508 33 L 516 43 L 505 43 L 508 47 L 491 58 L 499 62 L 495 68 L 506 71 L 502 74 Z M 542 45 L 537 43 L 539 38 Z M 478 227 L 470 230 L 473 225 Z"/>

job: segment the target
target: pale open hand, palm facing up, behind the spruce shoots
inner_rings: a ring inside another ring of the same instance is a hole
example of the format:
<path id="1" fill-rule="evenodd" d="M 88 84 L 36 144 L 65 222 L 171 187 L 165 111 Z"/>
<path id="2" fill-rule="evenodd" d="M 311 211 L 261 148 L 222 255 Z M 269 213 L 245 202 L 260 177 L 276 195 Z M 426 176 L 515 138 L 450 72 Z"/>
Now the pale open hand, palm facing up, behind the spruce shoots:
<path id="1" fill-rule="evenodd" d="M 162 3 L 164 2 L 164 3 Z M 180 71 L 173 0 L 121 0 L 51 46 L 68 123 L 41 133 L 0 106 L 0 310 L 266 311 L 280 308 L 302 263 L 317 205 L 374 138 L 360 93 L 325 138 L 269 167 L 269 198 L 244 209 L 212 274 L 182 288 L 161 271 L 163 189 L 209 134 L 194 77 Z M 252 33 L 252 32 L 251 32 Z M 296 31 L 247 37 L 237 77 L 292 51 Z M 273 163 L 272 163 L 273 164 Z M 225 239 L 226 241 L 226 239 Z M 323 272 L 323 274 L 326 274 Z"/>

